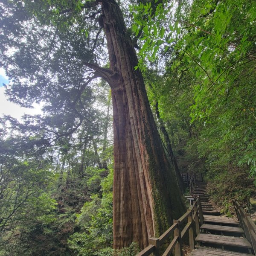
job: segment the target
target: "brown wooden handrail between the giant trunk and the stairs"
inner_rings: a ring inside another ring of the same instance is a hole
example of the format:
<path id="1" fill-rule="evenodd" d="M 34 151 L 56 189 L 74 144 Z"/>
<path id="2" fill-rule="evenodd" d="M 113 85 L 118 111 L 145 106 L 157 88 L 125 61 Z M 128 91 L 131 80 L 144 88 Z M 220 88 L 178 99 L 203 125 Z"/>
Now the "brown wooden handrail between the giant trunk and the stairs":
<path id="1" fill-rule="evenodd" d="M 173 252 L 173 250 L 175 250 L 175 256 L 181 256 L 182 239 L 187 233 L 189 233 L 190 249 L 194 249 L 194 231 L 192 224 L 193 222 L 195 222 L 195 231 L 198 235 L 200 207 L 200 200 L 199 198 L 196 198 L 191 209 L 183 214 L 178 220 L 173 220 L 172 226 L 169 227 L 169 229 L 166 230 L 159 238 L 150 238 L 148 247 L 138 253 L 137 256 L 149 256 L 151 253 L 153 253 L 154 256 L 160 256 L 160 246 L 163 245 L 163 243 L 171 236 L 173 236 L 174 238 L 170 242 L 167 249 L 163 252 L 163 256 L 169 256 Z M 187 223 L 185 227 L 183 227 L 183 223 L 185 221 L 187 221 Z"/>

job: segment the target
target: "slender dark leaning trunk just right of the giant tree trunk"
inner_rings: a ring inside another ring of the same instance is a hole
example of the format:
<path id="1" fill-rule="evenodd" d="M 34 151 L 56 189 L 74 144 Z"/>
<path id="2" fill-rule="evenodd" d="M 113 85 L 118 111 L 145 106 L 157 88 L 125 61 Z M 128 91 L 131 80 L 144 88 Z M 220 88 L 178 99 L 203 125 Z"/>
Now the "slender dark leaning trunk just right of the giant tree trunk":
<path id="1" fill-rule="evenodd" d="M 176 177 L 177 177 L 177 183 L 178 183 L 180 189 L 182 190 L 182 192 L 184 192 L 185 191 L 185 184 L 184 184 L 183 178 L 181 176 L 179 167 L 177 165 L 175 155 L 172 151 L 172 144 L 171 144 L 168 132 L 166 131 L 166 128 L 165 128 L 164 123 L 163 123 L 163 119 L 161 118 L 160 113 L 159 113 L 158 102 L 156 102 L 156 104 L 155 104 L 155 111 L 156 111 L 157 119 L 159 121 L 160 130 L 163 134 L 164 142 L 166 144 L 166 148 L 167 148 L 168 153 L 169 153 L 169 157 L 170 157 L 170 159 L 172 161 L 172 165 L 174 166 L 174 169 L 175 169 L 175 173 L 176 173 Z"/>

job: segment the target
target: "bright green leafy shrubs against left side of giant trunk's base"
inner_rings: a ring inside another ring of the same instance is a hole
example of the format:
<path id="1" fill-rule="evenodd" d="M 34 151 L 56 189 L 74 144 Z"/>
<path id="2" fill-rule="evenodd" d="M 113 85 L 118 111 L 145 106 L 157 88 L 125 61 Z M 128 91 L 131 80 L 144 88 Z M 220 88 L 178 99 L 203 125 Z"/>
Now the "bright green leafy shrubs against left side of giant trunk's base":
<path id="1" fill-rule="evenodd" d="M 112 183 L 113 170 L 108 177 L 102 180 L 102 198 L 99 198 L 97 194 L 92 195 L 90 201 L 84 204 L 81 213 L 77 215 L 77 226 L 80 231 L 74 233 L 68 241 L 69 247 L 77 255 L 91 256 L 102 255 L 103 252 L 107 253 L 107 251 L 112 252 Z"/>

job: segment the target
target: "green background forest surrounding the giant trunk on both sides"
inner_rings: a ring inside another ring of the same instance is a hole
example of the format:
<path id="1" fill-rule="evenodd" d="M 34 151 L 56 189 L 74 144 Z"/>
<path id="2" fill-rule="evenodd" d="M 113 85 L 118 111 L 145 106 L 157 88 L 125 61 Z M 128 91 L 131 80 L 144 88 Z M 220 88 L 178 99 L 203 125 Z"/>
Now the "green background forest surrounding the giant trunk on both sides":
<path id="1" fill-rule="evenodd" d="M 81 56 L 93 58 L 84 46 L 96 49 L 92 38 L 104 41 L 104 35 L 95 24 L 49 29 L 61 11 L 49 18 L 38 10 L 58 1 L 39 1 L 43 7 L 34 10 L 26 2 L 0 1 L 0 65 L 11 79 L 10 101 L 43 102 L 44 114 L 0 118 L 0 255 L 135 255 L 137 244 L 112 249 L 111 90 L 102 79 L 81 82 Z M 84 4 L 70 2 L 77 12 Z M 256 2 L 119 5 L 139 56 L 134 68 L 143 71 L 175 169 L 201 173 L 222 212 L 232 214 L 230 198 L 256 212 Z M 35 23 L 20 29 L 32 14 Z M 44 43 L 33 32 L 38 27 Z M 57 36 L 66 58 L 51 53 Z M 99 55 L 108 67 L 105 50 Z"/>

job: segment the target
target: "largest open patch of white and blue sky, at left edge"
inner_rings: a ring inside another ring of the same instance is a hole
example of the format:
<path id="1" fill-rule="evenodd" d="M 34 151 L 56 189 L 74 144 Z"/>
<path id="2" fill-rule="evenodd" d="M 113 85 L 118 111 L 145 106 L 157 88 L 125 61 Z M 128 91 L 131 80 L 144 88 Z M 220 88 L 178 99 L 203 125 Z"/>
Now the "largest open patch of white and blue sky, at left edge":
<path id="1" fill-rule="evenodd" d="M 3 114 L 10 115 L 14 118 L 21 119 L 24 113 L 26 114 L 40 114 L 41 109 L 40 105 L 34 105 L 34 108 L 21 108 L 19 105 L 9 102 L 7 97 L 4 95 L 5 87 L 4 84 L 8 84 L 8 77 L 5 74 L 5 71 L 0 67 L 0 116 Z"/>

